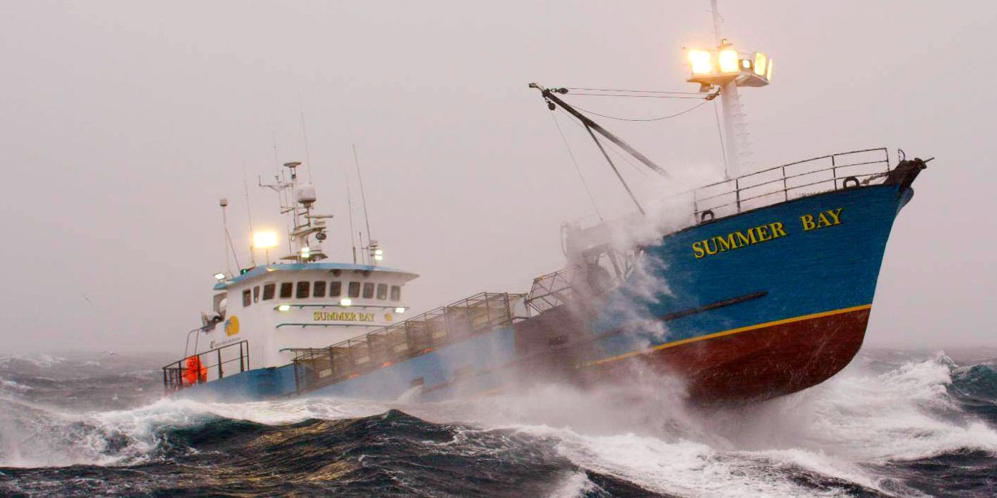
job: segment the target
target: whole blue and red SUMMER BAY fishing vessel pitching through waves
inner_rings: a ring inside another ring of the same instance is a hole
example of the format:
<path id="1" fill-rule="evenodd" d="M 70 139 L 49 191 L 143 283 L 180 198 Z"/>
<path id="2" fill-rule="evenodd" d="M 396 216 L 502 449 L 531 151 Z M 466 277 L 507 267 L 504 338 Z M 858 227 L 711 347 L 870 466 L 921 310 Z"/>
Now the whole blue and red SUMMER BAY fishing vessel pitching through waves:
<path id="1" fill-rule="evenodd" d="M 768 85 L 772 60 L 726 40 L 688 58 L 689 82 L 724 110 L 728 175 L 662 203 L 678 225 L 623 244 L 613 234 L 624 221 L 565 225 L 564 268 L 528 292 L 411 316 L 405 285 L 418 275 L 382 266 L 376 243 L 359 262 L 327 261 L 328 215 L 288 162 L 269 185 L 288 199 L 287 254 L 216 276 L 211 311 L 163 370 L 167 392 L 436 400 L 652 373 L 697 401 L 743 402 L 830 378 L 862 344 L 893 220 L 930 159 L 901 152 L 894 163 L 885 147 L 864 148 L 741 174 L 739 89 Z M 566 102 L 570 90 L 530 88 L 581 124 L 614 171 L 609 146 L 667 176 Z M 638 218 L 657 214 L 616 174 Z"/>

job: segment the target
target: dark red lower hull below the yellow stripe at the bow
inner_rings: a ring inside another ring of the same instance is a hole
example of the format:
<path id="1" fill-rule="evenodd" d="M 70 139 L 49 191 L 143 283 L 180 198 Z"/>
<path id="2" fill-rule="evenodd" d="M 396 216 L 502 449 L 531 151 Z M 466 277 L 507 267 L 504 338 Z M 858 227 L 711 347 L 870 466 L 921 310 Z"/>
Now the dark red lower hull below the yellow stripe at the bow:
<path id="1" fill-rule="evenodd" d="M 812 387 L 840 372 L 858 353 L 868 318 L 867 306 L 801 317 L 666 344 L 593 367 L 617 378 L 627 378 L 637 366 L 678 375 L 696 402 L 768 399 Z"/>

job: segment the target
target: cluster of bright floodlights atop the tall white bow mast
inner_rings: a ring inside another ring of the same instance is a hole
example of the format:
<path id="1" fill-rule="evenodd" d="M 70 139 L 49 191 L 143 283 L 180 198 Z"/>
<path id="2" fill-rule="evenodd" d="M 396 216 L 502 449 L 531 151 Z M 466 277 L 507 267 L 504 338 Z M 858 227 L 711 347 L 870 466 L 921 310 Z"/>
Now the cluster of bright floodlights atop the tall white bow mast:
<path id="1" fill-rule="evenodd" d="M 704 88 L 737 81 L 739 87 L 764 87 L 772 80 L 772 59 L 762 52 L 741 53 L 724 40 L 714 50 L 687 51 L 690 83 Z"/>

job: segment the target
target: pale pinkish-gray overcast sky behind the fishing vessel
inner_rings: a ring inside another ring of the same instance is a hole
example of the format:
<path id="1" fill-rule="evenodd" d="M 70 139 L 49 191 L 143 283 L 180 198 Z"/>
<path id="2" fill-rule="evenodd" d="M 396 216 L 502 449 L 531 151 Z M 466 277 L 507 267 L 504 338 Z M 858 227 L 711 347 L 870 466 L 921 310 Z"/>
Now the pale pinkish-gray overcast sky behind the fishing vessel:
<path id="1" fill-rule="evenodd" d="M 868 342 L 993 345 L 997 4 L 720 7 L 726 37 L 775 59 L 774 83 L 742 99 L 759 166 L 881 145 L 938 157 L 894 227 Z M 302 104 L 318 206 L 337 215 L 335 259 L 349 257 L 343 168 L 353 175 L 355 141 L 386 263 L 422 275 L 407 288 L 417 311 L 524 292 L 561 266 L 559 224 L 592 213 L 526 84 L 694 91 L 682 48 L 712 42 L 708 9 L 3 2 L 0 353 L 178 352 L 223 267 L 217 199 L 229 198 L 244 247 L 242 168 L 251 184 L 271 174 L 272 133 L 280 160 L 305 160 Z M 635 117 L 690 105 L 633 101 L 585 102 Z M 711 106 L 606 125 L 680 175 L 719 167 Z M 590 141 L 564 129 L 600 207 L 628 210 Z M 273 194 L 250 195 L 255 224 L 280 226 Z"/>

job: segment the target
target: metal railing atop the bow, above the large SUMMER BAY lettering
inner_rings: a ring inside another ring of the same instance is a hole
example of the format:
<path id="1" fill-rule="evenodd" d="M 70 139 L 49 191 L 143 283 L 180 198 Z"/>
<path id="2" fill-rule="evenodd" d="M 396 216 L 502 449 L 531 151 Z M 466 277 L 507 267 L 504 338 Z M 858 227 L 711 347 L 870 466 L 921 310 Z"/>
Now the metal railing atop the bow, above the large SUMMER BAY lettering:
<path id="1" fill-rule="evenodd" d="M 885 147 L 790 162 L 704 185 L 691 192 L 697 222 L 816 193 L 866 185 L 889 173 Z"/>

